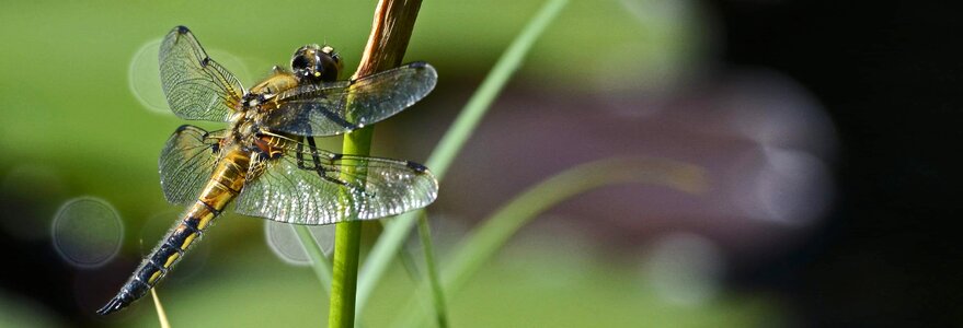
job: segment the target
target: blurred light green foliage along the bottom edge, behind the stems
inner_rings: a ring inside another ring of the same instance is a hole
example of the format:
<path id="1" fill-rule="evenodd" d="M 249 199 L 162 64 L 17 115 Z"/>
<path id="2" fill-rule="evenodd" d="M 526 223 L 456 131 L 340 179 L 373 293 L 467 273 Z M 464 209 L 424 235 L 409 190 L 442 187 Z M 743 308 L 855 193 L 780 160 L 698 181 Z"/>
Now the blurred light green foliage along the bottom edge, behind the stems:
<path id="1" fill-rule="evenodd" d="M 591 253 L 562 247 L 513 248 L 457 297 L 449 300 L 458 327 L 552 326 L 758 327 L 778 324 L 778 304 L 737 294 L 704 305 L 666 303 L 644 283 L 640 268 L 612 266 Z M 554 248 L 554 249 L 550 249 Z M 221 249 L 218 249 L 221 250 Z M 307 268 L 284 267 L 259 247 L 244 258 L 209 262 L 194 288 L 159 292 L 172 327 L 317 326 L 325 323 L 328 297 Z M 573 255 L 575 254 L 575 255 Z M 577 266 L 573 266 L 577 263 Z M 376 291 L 365 326 L 390 327 L 403 314 L 412 281 L 395 268 Z M 552 272 L 552 273 L 547 273 Z M 283 279 L 282 279 L 283 278 Z M 149 300 L 148 300 L 149 301 Z M 424 304 L 425 309 L 431 306 Z M 153 327 L 150 304 L 133 309 L 121 326 Z"/>

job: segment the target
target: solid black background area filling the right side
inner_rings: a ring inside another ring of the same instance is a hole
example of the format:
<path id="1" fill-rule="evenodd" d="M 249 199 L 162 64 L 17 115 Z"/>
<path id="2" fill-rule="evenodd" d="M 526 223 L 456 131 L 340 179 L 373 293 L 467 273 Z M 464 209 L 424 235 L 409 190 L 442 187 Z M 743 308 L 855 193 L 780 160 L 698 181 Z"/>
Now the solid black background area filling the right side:
<path id="1" fill-rule="evenodd" d="M 738 272 L 802 326 L 956 326 L 963 31 L 936 2 L 715 1 L 725 59 L 794 77 L 840 134 L 840 199 L 814 238 Z"/>

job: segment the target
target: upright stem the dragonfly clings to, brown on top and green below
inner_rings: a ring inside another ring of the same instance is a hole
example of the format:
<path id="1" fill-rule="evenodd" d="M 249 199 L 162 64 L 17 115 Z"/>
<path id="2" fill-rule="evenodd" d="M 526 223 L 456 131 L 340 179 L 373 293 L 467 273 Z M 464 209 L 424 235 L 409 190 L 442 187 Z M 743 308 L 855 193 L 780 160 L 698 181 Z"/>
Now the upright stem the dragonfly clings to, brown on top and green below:
<path id="1" fill-rule="evenodd" d="M 420 0 L 381 0 L 378 2 L 371 24 L 371 34 L 353 79 L 401 65 L 420 8 Z M 368 155 L 371 150 L 374 131 L 374 127 L 366 127 L 345 134 L 342 152 Z M 349 171 L 351 168 L 345 168 L 345 173 Z M 342 178 L 352 179 L 349 174 L 343 175 Z M 364 177 L 359 177 L 359 179 L 364 179 Z M 364 185 L 364 181 L 360 183 Z M 347 220 L 339 223 L 335 227 L 334 274 L 331 282 L 329 327 L 354 327 L 360 236 L 362 223 L 359 221 Z"/>

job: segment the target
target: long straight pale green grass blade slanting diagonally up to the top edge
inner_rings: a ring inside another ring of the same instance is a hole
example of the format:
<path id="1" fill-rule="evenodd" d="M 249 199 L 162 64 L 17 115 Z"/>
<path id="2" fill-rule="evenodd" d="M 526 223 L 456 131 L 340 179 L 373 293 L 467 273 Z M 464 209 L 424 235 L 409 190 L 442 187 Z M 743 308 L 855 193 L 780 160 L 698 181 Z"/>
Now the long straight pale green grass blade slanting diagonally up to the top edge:
<path id="1" fill-rule="evenodd" d="M 550 0 L 546 2 L 498 58 L 498 61 L 485 77 L 478 91 L 468 101 L 465 108 L 461 109 L 458 118 L 455 119 L 452 126 L 445 132 L 442 141 L 438 142 L 438 145 L 426 162 L 427 167 L 435 173 L 436 178 L 440 180 L 448 172 L 448 167 L 451 165 L 455 156 L 458 155 L 468 137 L 478 127 L 481 118 L 491 107 L 498 93 L 501 93 L 505 83 L 518 70 L 521 60 L 528 54 L 535 40 L 548 27 L 549 23 L 558 15 L 566 2 L 568 0 Z M 385 232 L 378 238 L 374 248 L 371 248 L 368 260 L 365 262 L 364 268 L 362 268 L 357 295 L 358 309 L 364 308 L 365 304 L 367 304 L 371 292 L 381 280 L 381 277 L 388 269 L 388 265 L 391 263 L 391 259 L 398 254 L 421 211 L 423 210 L 401 214 L 385 224 Z"/>

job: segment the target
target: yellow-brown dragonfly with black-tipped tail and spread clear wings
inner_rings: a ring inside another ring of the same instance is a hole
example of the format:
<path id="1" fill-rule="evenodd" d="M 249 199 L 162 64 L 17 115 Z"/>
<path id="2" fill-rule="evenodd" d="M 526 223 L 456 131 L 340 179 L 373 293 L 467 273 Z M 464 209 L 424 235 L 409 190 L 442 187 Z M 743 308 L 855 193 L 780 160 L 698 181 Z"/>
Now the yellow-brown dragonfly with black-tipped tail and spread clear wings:
<path id="1" fill-rule="evenodd" d="M 100 315 L 145 296 L 232 201 L 240 214 L 319 225 L 395 215 L 437 198 L 438 181 L 422 164 L 339 154 L 314 141 L 378 122 L 425 97 L 438 77 L 426 62 L 337 81 L 341 57 L 330 46 L 307 45 L 295 51 L 290 69 L 275 66 L 245 90 L 184 26 L 164 37 L 159 60 L 176 116 L 229 127 L 184 125 L 168 139 L 161 187 L 169 202 L 186 210 Z"/>

